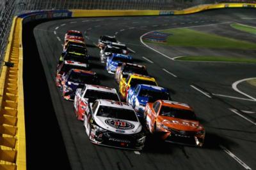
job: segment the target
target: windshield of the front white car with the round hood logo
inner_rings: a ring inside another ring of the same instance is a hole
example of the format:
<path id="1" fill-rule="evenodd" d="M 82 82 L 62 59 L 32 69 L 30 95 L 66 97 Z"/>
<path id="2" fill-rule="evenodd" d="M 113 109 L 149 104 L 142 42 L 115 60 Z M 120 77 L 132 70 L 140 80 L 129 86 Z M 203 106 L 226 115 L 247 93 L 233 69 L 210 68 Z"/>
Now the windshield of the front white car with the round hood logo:
<path id="1" fill-rule="evenodd" d="M 109 106 L 100 106 L 97 116 L 108 117 L 108 118 L 118 118 L 122 120 L 130 120 L 133 122 L 138 122 L 137 117 L 133 110 L 113 108 Z"/>

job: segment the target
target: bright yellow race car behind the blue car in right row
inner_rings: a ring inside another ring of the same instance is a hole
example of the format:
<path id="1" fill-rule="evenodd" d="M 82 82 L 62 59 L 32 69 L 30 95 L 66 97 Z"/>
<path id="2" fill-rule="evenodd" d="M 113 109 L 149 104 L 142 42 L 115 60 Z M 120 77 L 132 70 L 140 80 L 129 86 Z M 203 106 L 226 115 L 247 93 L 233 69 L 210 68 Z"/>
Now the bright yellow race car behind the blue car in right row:
<path id="1" fill-rule="evenodd" d="M 123 99 L 126 99 L 128 90 L 138 84 L 157 85 L 155 78 L 143 76 L 141 74 L 131 74 L 127 78 L 122 78 L 119 83 L 119 92 Z"/>

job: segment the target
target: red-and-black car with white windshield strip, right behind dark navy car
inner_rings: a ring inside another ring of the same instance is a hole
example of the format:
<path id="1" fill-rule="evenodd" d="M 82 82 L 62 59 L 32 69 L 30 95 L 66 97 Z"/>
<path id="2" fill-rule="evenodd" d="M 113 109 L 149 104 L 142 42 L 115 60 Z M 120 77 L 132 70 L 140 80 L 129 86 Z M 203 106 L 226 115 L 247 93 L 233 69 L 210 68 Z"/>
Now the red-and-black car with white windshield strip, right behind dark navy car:
<path id="1" fill-rule="evenodd" d="M 66 74 L 70 69 L 88 69 L 88 64 L 84 64 L 82 62 L 75 62 L 72 60 L 65 60 L 62 62 L 56 71 L 56 85 L 57 87 L 61 87 L 61 77 L 63 74 Z"/>

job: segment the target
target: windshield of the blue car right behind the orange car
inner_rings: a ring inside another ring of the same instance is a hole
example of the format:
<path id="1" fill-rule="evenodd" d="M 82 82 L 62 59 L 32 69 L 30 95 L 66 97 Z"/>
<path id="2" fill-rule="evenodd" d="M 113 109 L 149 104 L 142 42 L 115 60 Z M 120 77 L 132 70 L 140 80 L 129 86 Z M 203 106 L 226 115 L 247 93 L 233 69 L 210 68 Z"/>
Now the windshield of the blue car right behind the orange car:
<path id="1" fill-rule="evenodd" d="M 148 102 L 155 102 L 159 99 L 169 100 L 169 94 L 166 92 L 157 92 L 153 90 L 141 89 L 139 96 L 148 97 Z"/>

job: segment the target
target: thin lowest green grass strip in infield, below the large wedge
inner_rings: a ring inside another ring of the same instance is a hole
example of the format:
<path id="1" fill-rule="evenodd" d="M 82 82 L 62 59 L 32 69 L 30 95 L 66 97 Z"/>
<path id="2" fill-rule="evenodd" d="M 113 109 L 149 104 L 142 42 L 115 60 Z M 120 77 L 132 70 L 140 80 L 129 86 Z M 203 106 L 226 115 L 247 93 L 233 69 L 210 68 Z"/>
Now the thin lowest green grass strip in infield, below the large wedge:
<path id="1" fill-rule="evenodd" d="M 256 59 L 243 59 L 234 57 L 217 57 L 217 56 L 188 56 L 180 57 L 175 60 L 194 60 L 194 61 L 220 61 L 220 62 L 249 62 L 256 63 Z"/>

